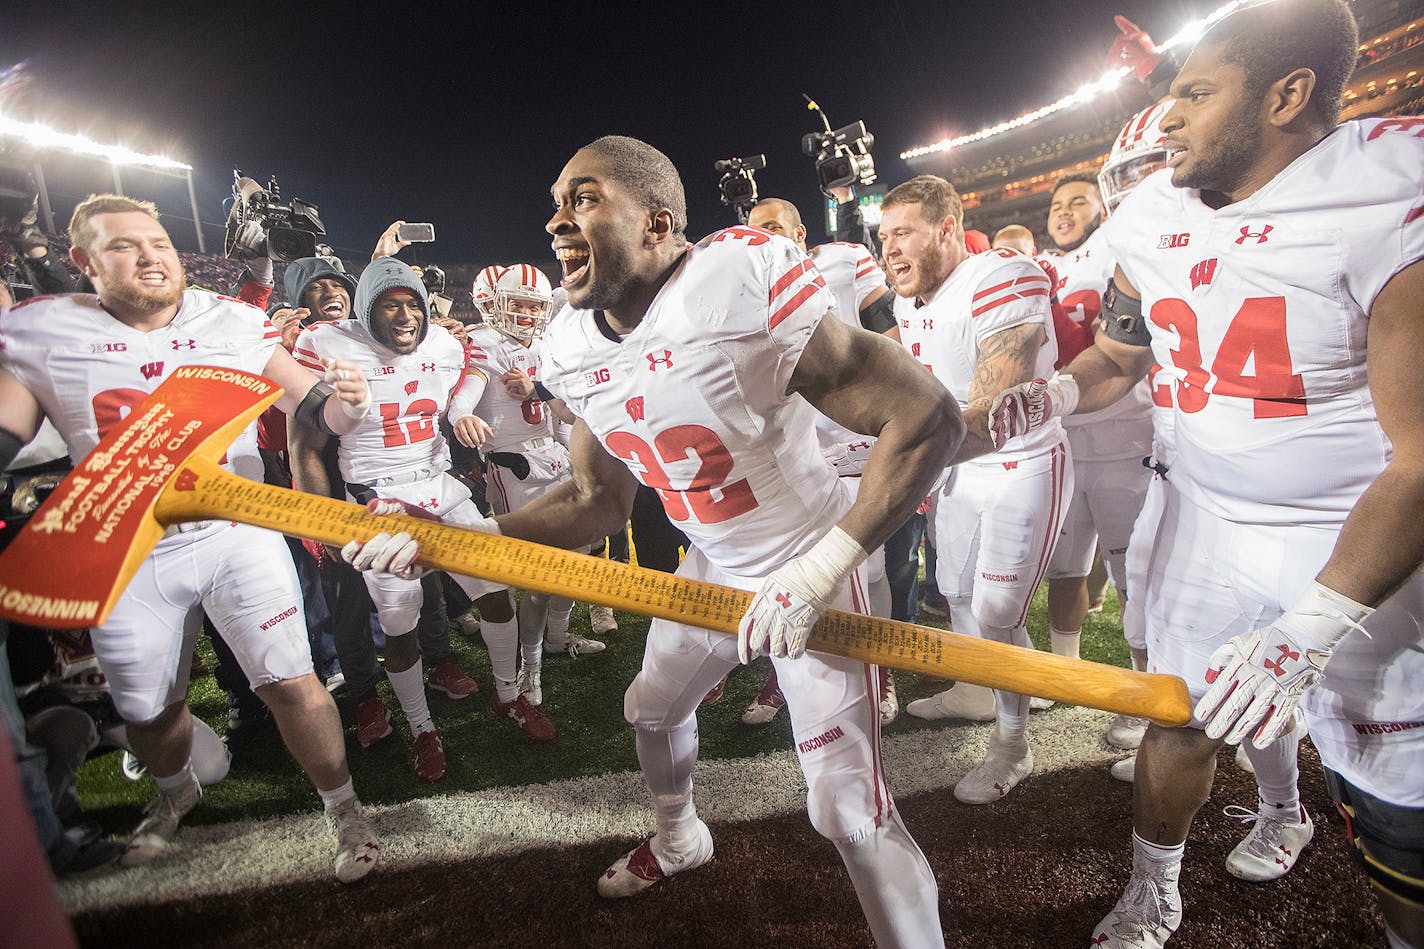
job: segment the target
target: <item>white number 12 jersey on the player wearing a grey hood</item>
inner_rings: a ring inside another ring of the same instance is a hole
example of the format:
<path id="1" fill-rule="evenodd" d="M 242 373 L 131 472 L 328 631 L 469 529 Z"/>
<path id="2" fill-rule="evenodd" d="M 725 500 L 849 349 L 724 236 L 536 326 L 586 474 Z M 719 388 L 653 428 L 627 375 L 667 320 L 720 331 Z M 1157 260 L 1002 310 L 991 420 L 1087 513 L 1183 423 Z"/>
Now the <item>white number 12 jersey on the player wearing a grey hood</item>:
<path id="1" fill-rule="evenodd" d="M 440 413 L 464 378 L 464 348 L 431 323 L 414 352 L 396 355 L 356 319 L 313 323 L 293 352 L 308 369 L 322 359 L 355 362 L 370 388 L 370 412 L 336 452 L 342 477 L 352 484 L 409 476 L 427 467 L 444 472 L 450 447 L 440 433 Z M 431 474 L 433 476 L 433 474 Z"/>

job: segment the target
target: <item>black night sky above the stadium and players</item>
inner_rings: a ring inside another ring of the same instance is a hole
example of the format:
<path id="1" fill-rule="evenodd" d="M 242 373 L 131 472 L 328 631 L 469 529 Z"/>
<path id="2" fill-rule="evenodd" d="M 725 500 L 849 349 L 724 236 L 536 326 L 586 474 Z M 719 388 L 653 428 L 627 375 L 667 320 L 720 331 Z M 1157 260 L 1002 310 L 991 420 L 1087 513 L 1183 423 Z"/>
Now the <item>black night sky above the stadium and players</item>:
<path id="1" fill-rule="evenodd" d="M 760 194 L 810 217 L 820 195 L 800 138 L 819 120 L 803 91 L 837 127 L 863 118 L 880 180 L 896 184 L 910 175 L 901 150 L 1098 77 L 1114 13 L 1161 41 L 1218 0 L 515 0 L 449 14 L 422 4 L 214 6 L 10 9 L 0 67 L 28 61 L 34 118 L 192 164 L 205 221 L 222 219 L 239 167 L 262 181 L 276 174 L 285 197 L 316 204 L 326 239 L 349 259 L 363 261 L 380 229 L 404 218 L 436 225 L 437 244 L 416 259 L 548 265 L 548 187 L 601 134 L 668 152 L 686 184 L 689 235 L 735 222 L 712 170 L 729 155 L 765 152 Z M 75 198 L 111 187 L 104 167 L 47 172 L 64 219 Z M 181 184 L 125 172 L 125 185 L 187 214 Z M 218 232 L 205 234 L 211 251 Z"/>

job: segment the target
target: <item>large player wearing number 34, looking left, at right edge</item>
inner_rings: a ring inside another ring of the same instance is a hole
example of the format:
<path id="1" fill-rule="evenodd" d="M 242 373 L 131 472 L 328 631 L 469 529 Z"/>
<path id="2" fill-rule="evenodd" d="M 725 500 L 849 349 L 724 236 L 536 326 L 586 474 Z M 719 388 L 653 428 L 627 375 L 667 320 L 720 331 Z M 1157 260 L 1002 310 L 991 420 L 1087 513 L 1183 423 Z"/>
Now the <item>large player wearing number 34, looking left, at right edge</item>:
<path id="1" fill-rule="evenodd" d="M 1162 120 L 1171 170 L 1108 228 L 1104 335 L 1071 379 L 995 413 L 1010 435 L 1099 408 L 1153 356 L 1176 378 L 1148 658 L 1199 701 L 1190 727 L 1142 741 L 1132 876 L 1095 945 L 1171 936 L 1218 748 L 1267 747 L 1299 704 L 1390 943 L 1424 946 L 1424 120 L 1339 125 L 1357 43 L 1339 0 L 1208 30 Z M 1277 804 L 1252 831 L 1262 864 L 1310 839 Z"/>

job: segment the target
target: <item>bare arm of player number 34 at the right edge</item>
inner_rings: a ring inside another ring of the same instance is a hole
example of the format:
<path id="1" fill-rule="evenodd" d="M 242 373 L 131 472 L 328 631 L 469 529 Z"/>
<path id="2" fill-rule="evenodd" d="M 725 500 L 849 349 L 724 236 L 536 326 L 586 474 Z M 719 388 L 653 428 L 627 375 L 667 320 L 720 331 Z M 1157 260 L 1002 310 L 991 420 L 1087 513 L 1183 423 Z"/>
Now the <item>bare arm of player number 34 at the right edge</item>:
<path id="1" fill-rule="evenodd" d="M 1424 261 L 1390 279 L 1370 306 L 1370 393 L 1393 453 L 1346 517 L 1317 580 L 1378 606 L 1424 561 Z"/>

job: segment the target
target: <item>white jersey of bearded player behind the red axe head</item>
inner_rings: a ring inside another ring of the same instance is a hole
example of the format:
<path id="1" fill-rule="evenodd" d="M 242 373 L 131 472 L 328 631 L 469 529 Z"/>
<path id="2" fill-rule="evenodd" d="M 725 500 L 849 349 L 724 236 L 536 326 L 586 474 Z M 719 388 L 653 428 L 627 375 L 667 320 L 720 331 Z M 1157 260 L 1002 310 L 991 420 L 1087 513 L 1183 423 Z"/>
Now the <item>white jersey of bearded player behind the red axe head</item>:
<path id="1" fill-rule="evenodd" d="M 261 375 L 279 343 L 261 309 L 197 289 L 184 291 L 174 321 L 151 332 L 114 319 L 91 294 L 36 296 L 0 315 L 0 368 L 34 395 L 75 462 L 179 366 Z M 256 425 L 222 460 L 262 480 Z"/>

